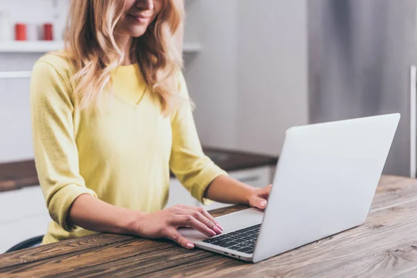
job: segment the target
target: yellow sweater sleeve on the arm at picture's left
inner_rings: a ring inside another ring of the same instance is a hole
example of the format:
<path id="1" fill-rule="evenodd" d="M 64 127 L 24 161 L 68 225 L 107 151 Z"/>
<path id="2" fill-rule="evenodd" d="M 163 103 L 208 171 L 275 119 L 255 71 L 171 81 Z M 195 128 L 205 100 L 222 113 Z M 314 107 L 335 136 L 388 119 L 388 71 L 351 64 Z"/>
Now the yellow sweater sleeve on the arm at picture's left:
<path id="1" fill-rule="evenodd" d="M 31 124 L 35 164 L 51 218 L 65 231 L 80 229 L 67 224 L 68 210 L 76 197 L 96 193 L 79 174 L 74 139 L 70 85 L 56 67 L 38 61 L 31 76 Z"/>

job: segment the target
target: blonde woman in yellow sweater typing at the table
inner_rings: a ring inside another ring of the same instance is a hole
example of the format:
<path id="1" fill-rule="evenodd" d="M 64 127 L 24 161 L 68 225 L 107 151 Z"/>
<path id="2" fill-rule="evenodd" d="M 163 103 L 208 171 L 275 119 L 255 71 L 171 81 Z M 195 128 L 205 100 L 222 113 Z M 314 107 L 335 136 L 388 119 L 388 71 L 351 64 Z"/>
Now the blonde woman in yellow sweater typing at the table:
<path id="1" fill-rule="evenodd" d="M 43 243 L 97 231 L 171 238 L 222 228 L 202 208 L 165 208 L 169 171 L 201 202 L 265 208 L 270 187 L 204 156 L 181 74 L 182 0 L 72 0 L 65 50 L 35 63 L 35 162 L 49 214 Z"/>

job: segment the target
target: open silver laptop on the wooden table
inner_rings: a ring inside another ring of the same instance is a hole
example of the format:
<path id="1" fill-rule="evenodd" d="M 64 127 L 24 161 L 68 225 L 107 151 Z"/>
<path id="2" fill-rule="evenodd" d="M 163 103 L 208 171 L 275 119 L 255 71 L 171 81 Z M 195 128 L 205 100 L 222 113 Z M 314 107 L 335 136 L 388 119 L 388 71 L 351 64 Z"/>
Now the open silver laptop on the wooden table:
<path id="1" fill-rule="evenodd" d="M 190 227 L 180 234 L 256 263 L 363 224 L 399 120 L 395 113 L 291 127 L 265 211 L 222 215 L 224 231 L 211 238 Z"/>

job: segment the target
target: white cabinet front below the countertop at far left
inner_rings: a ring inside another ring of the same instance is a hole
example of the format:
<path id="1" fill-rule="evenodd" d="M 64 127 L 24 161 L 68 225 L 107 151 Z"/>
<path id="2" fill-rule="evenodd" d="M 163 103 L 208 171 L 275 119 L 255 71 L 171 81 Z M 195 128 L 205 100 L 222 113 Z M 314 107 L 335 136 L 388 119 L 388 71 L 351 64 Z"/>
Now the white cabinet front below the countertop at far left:
<path id="1" fill-rule="evenodd" d="M 47 232 L 51 217 L 40 186 L 0 193 L 0 254 Z"/>

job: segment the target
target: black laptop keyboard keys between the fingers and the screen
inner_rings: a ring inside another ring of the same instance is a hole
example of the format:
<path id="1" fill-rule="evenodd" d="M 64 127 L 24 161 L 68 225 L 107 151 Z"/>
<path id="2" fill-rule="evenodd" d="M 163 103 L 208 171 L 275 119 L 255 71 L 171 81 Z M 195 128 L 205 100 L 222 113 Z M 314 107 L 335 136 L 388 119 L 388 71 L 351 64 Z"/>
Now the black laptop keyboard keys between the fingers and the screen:
<path id="1" fill-rule="evenodd" d="M 252 254 L 254 252 L 260 227 L 261 224 L 257 224 L 237 231 L 231 231 L 227 234 L 207 238 L 206 240 L 203 240 L 203 243 L 210 243 L 231 250 Z"/>

